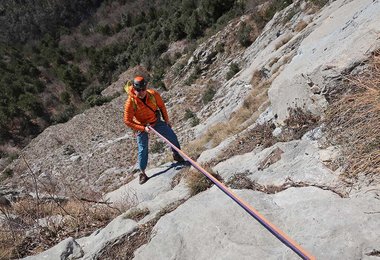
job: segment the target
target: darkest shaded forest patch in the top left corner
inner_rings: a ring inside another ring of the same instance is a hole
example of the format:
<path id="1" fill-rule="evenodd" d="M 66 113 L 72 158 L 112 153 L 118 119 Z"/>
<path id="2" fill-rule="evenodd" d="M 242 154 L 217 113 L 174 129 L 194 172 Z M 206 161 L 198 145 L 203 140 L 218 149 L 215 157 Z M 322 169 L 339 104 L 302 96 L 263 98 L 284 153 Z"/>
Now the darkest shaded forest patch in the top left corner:
<path id="1" fill-rule="evenodd" d="M 102 0 L 2 1 L 0 42 L 25 43 L 78 25 Z M 9 28 L 12 28 L 10 30 Z"/>

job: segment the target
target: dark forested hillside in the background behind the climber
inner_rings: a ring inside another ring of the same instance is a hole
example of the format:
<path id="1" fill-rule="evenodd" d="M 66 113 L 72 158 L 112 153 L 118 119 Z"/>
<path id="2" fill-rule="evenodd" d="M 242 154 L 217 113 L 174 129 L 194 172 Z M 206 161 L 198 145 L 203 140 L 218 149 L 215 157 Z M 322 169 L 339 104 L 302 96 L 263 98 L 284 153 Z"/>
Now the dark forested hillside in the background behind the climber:
<path id="1" fill-rule="evenodd" d="M 162 56 L 169 44 L 187 39 L 191 50 L 244 8 L 235 0 L 2 1 L 2 157 L 47 126 L 111 100 L 100 92 L 131 66 L 144 65 L 165 89 L 165 68 L 183 54 Z"/>

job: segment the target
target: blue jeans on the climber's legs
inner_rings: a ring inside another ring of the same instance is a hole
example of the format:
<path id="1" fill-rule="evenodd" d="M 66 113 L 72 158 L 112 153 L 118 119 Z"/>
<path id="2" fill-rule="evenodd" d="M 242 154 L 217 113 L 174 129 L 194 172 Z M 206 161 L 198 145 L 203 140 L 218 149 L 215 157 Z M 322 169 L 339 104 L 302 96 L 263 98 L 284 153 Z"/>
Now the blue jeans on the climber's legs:
<path id="1" fill-rule="evenodd" d="M 181 149 L 177 135 L 174 133 L 173 129 L 168 126 L 163 121 L 158 121 L 154 126 L 154 130 L 163 135 L 166 139 L 168 139 L 172 144 L 174 144 L 178 149 Z M 138 159 L 140 170 L 145 171 L 146 166 L 148 165 L 148 141 L 149 135 L 147 132 L 140 132 L 137 135 L 137 146 L 138 146 Z M 173 153 L 178 154 L 172 148 Z"/>

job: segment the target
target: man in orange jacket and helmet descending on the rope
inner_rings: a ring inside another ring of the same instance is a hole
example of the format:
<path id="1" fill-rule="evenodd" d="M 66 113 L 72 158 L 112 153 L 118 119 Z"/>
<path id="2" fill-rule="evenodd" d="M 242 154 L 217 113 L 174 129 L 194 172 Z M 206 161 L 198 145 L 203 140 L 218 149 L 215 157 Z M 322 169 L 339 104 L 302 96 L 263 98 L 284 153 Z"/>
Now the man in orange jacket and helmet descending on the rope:
<path id="1" fill-rule="evenodd" d="M 147 89 L 147 85 L 144 77 L 135 77 L 132 85 L 127 89 L 128 99 L 124 106 L 124 123 L 132 130 L 137 131 L 138 160 L 141 170 L 140 184 L 144 184 L 149 179 L 145 174 L 148 164 L 148 133 L 150 131 L 148 126 L 153 127 L 180 149 L 177 135 L 171 128 L 168 112 L 162 97 L 157 91 Z M 184 159 L 177 151 L 172 149 L 172 152 L 175 161 L 184 162 Z"/>

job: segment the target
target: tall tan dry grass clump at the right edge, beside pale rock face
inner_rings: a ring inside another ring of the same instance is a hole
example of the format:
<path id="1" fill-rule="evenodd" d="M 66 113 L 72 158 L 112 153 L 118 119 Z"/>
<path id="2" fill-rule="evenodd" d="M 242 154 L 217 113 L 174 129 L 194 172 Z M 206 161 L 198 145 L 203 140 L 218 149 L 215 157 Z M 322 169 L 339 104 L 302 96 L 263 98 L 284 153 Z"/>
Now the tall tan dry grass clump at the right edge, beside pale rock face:
<path id="1" fill-rule="evenodd" d="M 342 148 L 345 176 L 380 175 L 380 50 L 369 68 L 347 79 L 346 93 L 326 113 L 329 141 Z"/>

